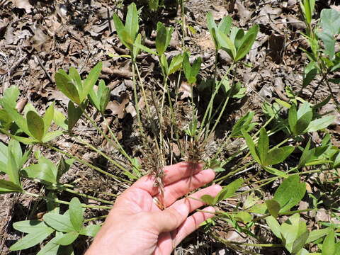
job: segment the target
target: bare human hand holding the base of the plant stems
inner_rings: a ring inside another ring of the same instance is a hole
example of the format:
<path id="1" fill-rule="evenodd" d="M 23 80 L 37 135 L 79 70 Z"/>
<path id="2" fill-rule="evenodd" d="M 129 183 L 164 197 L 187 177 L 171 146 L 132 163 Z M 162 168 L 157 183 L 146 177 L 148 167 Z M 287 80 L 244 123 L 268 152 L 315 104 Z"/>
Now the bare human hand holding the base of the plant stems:
<path id="1" fill-rule="evenodd" d="M 200 197 L 205 194 L 216 196 L 222 189 L 214 185 L 193 193 L 190 198 L 177 200 L 215 178 L 211 169 L 202 170 L 200 164 L 196 164 L 195 169 L 192 166 L 183 162 L 164 167 L 165 210 L 160 210 L 153 201 L 154 196 L 159 196 L 153 179 L 144 176 L 136 181 L 115 200 L 86 255 L 171 254 L 188 234 L 198 229 L 201 222 L 214 215 L 215 209 L 208 207 L 205 212 L 188 216 L 204 205 Z M 192 181 L 189 181 L 191 174 Z"/>

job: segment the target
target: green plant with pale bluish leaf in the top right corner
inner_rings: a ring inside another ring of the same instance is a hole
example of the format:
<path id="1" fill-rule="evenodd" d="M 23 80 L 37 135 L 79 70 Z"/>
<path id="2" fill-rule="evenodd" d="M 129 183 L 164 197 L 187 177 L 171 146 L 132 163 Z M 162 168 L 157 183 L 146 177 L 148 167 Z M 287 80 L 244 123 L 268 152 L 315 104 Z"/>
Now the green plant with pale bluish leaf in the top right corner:
<path id="1" fill-rule="evenodd" d="M 321 79 L 317 82 L 310 98 L 313 98 L 319 86 L 324 84 L 339 110 L 339 101 L 334 96 L 331 84 L 340 83 L 339 79 L 333 78 L 335 72 L 340 69 L 340 52 L 336 52 L 335 47 L 336 35 L 340 33 L 340 12 L 334 8 L 324 8 L 317 26 L 313 26 L 315 0 L 301 0 L 300 6 L 307 27 L 306 33 L 302 35 L 310 45 L 310 50 L 303 50 L 310 62 L 305 67 L 302 89 L 319 75 Z"/>

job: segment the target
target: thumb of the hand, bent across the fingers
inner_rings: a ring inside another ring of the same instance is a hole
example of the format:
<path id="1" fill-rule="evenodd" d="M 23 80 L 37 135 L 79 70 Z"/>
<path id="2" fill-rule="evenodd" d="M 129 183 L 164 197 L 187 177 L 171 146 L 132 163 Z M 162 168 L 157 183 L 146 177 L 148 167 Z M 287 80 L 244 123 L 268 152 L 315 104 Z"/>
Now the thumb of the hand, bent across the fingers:
<path id="1" fill-rule="evenodd" d="M 175 203 L 162 212 L 154 212 L 152 222 L 159 233 L 170 232 L 179 227 L 188 217 L 189 208 L 186 203 Z"/>

